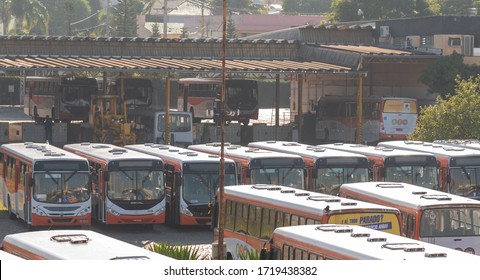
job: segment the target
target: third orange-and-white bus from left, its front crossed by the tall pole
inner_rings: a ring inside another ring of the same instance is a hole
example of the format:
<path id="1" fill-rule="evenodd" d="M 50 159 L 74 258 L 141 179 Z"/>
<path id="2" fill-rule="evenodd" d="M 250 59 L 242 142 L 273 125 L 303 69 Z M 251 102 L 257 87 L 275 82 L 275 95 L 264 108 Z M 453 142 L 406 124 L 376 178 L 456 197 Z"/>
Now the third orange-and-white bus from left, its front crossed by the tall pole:
<path id="1" fill-rule="evenodd" d="M 165 162 L 166 220 L 175 225 L 210 225 L 220 184 L 220 157 L 171 145 L 136 144 L 125 148 Z M 237 184 L 235 162 L 225 161 L 224 185 Z"/>

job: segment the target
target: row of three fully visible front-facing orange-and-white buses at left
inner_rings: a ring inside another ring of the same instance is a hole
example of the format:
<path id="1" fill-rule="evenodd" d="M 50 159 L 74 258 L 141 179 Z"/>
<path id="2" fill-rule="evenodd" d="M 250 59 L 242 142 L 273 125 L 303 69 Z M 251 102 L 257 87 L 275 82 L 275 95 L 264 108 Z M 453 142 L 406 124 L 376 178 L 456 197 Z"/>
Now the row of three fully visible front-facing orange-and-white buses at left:
<path id="1" fill-rule="evenodd" d="M 3 205 L 29 226 L 209 225 L 220 158 L 169 145 L 0 146 Z M 236 185 L 225 161 L 225 184 Z"/>

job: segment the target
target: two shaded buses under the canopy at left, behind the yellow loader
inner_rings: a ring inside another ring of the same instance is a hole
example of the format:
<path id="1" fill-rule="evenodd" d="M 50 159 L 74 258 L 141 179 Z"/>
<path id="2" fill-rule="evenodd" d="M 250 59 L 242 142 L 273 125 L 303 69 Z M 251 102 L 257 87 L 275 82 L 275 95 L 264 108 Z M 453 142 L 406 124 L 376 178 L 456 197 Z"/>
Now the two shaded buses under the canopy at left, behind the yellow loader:
<path id="1" fill-rule="evenodd" d="M 107 82 L 92 77 L 25 77 L 24 112 L 37 122 L 49 115 L 62 122 L 88 121 L 92 95 L 121 96 L 129 108 L 152 104 L 153 86 L 149 79 L 118 78 Z"/>

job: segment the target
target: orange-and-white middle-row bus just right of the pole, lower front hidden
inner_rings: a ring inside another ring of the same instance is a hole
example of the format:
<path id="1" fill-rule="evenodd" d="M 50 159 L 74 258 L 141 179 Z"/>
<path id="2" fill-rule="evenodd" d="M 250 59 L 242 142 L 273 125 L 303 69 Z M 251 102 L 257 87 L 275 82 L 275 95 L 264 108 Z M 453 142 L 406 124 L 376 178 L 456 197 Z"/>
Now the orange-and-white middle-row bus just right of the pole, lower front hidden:
<path id="1" fill-rule="evenodd" d="M 189 149 L 220 155 L 221 144 L 207 143 Z M 237 163 L 241 184 L 275 184 L 306 189 L 305 163 L 299 155 L 224 143 L 224 157 Z"/>

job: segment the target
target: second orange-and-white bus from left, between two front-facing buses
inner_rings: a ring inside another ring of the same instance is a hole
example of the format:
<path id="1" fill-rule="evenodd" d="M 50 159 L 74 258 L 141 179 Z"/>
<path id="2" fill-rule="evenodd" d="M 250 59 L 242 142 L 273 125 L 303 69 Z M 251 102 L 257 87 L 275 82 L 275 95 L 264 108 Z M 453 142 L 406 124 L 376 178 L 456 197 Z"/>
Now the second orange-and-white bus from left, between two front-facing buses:
<path id="1" fill-rule="evenodd" d="M 104 224 L 165 223 L 162 160 L 103 143 L 67 144 L 63 148 L 88 160 L 93 219 Z"/>

